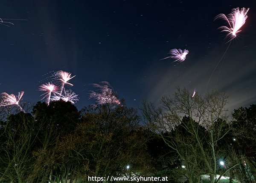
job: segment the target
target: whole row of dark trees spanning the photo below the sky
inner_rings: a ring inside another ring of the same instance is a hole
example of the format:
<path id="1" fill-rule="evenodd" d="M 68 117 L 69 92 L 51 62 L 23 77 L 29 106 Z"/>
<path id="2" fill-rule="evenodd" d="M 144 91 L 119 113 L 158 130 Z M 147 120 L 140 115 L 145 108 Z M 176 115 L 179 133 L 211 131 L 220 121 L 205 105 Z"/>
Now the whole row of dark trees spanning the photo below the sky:
<path id="1" fill-rule="evenodd" d="M 227 96 L 177 89 L 140 113 L 122 102 L 78 111 L 38 102 L 31 113 L 1 108 L 1 183 L 82 183 L 88 176 L 255 182 L 256 105 L 226 114 Z M 129 167 L 128 167 L 129 166 Z"/>

